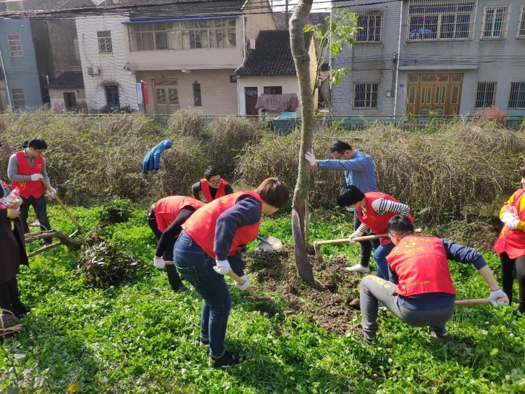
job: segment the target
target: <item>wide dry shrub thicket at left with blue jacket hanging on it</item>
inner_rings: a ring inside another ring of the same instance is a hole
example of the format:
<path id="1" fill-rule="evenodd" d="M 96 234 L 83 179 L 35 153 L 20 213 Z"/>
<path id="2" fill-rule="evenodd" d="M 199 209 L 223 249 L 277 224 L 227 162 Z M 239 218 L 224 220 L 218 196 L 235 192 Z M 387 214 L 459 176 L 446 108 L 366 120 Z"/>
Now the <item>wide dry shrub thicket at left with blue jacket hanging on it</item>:
<path id="1" fill-rule="evenodd" d="M 187 194 L 207 165 L 193 138 L 181 136 L 162 154 L 160 171 L 142 174 L 145 154 L 167 136 L 138 113 L 86 118 L 38 111 L 3 120 L 7 126 L 0 148 L 2 178 L 7 178 L 9 155 L 20 150 L 22 141 L 44 138 L 51 182 L 61 198 L 73 204 L 114 196 L 151 203 L 166 191 Z"/>

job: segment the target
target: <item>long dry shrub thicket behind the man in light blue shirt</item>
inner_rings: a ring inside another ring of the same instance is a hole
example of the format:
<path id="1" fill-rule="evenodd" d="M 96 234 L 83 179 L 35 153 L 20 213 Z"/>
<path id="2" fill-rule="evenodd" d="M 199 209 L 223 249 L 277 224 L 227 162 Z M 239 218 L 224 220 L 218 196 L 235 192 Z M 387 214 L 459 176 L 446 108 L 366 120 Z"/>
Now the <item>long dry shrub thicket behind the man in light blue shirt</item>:
<path id="1" fill-rule="evenodd" d="M 369 153 L 379 190 L 410 205 L 425 222 L 492 214 L 519 186 L 517 170 L 524 162 L 525 137 L 495 122 L 459 121 L 436 132 L 373 125 L 350 134 L 332 128 L 314 137 L 316 157 L 331 158 L 329 147 L 337 138 Z M 277 176 L 293 187 L 298 152 L 298 133 L 265 136 L 246 148 L 237 177 L 257 185 Z M 341 172 L 313 170 L 310 204 L 333 208 L 343 184 Z"/>

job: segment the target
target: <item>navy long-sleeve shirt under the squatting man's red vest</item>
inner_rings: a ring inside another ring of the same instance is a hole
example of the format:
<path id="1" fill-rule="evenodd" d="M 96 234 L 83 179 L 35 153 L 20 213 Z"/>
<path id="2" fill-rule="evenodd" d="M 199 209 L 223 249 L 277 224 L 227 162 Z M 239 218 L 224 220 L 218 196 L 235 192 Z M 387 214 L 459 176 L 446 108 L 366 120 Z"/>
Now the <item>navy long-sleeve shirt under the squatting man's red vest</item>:
<path id="1" fill-rule="evenodd" d="M 472 263 L 476 269 L 483 268 L 487 265 L 485 258 L 476 249 L 458 245 L 444 238 L 440 238 L 439 240 L 445 248 L 448 260 L 454 260 L 464 264 Z M 399 277 L 392 271 L 390 265 L 388 265 L 388 275 L 390 276 L 390 282 L 396 285 L 399 283 Z M 400 295 L 398 296 L 398 300 L 400 305 L 412 310 L 442 309 L 454 306 L 454 295 L 449 293 L 427 293 L 408 297 Z"/>

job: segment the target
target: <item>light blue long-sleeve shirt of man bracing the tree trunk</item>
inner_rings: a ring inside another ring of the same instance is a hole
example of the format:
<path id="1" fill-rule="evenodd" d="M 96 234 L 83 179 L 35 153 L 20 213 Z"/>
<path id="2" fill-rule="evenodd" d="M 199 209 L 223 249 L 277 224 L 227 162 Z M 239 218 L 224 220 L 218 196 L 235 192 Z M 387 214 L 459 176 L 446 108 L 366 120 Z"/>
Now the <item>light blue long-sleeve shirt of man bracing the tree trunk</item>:
<path id="1" fill-rule="evenodd" d="M 356 150 L 349 160 L 318 160 L 319 168 L 344 171 L 347 185 L 354 185 L 363 193 L 376 192 L 374 162 L 370 155 Z"/>

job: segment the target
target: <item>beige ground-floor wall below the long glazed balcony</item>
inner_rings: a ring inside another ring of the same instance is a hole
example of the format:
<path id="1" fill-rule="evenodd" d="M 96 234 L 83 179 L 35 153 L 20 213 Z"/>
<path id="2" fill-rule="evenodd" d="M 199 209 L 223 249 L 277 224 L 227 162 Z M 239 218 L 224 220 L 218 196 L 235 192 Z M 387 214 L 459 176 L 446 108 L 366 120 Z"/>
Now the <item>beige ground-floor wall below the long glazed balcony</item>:
<path id="1" fill-rule="evenodd" d="M 177 96 L 180 108 L 192 108 L 204 115 L 235 115 L 237 113 L 237 87 L 230 82 L 229 70 L 192 70 L 190 74 L 180 70 L 137 71 L 137 81 L 148 83 L 149 104 L 146 112 L 158 113 L 155 108 L 154 79 L 177 79 Z M 196 82 L 195 82 L 196 81 Z M 201 84 L 202 106 L 194 106 L 193 84 Z"/>

